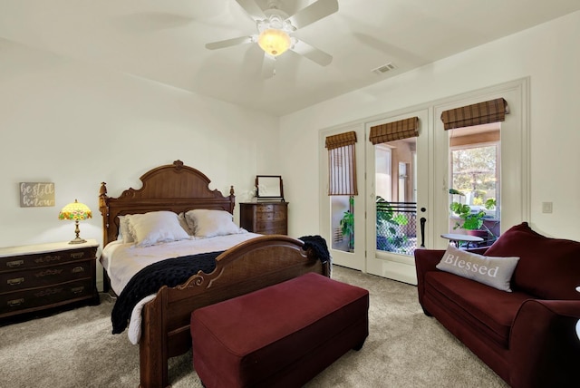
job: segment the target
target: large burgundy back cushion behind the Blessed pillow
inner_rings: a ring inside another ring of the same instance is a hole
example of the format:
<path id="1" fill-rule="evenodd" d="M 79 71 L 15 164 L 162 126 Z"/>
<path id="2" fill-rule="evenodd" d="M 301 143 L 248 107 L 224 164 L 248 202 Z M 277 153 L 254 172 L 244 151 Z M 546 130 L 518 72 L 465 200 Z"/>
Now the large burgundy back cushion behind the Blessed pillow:
<path id="1" fill-rule="evenodd" d="M 523 222 L 504 232 L 486 256 L 520 257 L 512 286 L 543 299 L 580 299 L 580 242 L 542 236 Z"/>

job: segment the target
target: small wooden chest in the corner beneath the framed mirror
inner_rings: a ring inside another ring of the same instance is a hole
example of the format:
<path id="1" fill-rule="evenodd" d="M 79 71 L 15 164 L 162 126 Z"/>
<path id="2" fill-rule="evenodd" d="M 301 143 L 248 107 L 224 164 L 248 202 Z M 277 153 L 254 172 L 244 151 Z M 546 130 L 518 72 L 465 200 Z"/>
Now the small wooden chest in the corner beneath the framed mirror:
<path id="1" fill-rule="evenodd" d="M 239 204 L 240 227 L 263 235 L 288 234 L 288 202 L 246 202 Z"/>

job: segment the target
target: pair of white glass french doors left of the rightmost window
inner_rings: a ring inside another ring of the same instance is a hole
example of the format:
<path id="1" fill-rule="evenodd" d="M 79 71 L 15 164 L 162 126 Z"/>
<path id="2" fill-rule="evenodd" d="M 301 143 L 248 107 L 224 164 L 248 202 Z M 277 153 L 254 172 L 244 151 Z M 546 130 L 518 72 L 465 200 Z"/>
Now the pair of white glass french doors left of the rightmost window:
<path id="1" fill-rule="evenodd" d="M 324 138 L 356 132 L 356 175 L 359 195 L 326 196 L 328 175 L 321 186 L 321 228 L 333 263 L 415 284 L 413 252 L 429 247 L 429 110 L 397 115 L 321 132 Z M 416 117 L 418 136 L 372 144 L 372 126 Z M 321 170 L 329 170 L 321 155 Z M 445 162 L 445 161 L 443 161 Z M 344 228 L 352 222 L 353 234 Z M 396 228 L 394 228 L 396 227 Z"/>

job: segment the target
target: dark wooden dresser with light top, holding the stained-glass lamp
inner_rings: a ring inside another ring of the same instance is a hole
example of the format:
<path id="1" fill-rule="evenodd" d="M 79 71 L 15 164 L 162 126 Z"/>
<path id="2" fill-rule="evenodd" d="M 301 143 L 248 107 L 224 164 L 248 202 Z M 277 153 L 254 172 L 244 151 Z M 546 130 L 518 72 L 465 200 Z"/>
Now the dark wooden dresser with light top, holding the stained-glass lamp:
<path id="1" fill-rule="evenodd" d="M 75 302 L 98 305 L 97 247 L 95 240 L 0 247 L 0 322 Z"/>

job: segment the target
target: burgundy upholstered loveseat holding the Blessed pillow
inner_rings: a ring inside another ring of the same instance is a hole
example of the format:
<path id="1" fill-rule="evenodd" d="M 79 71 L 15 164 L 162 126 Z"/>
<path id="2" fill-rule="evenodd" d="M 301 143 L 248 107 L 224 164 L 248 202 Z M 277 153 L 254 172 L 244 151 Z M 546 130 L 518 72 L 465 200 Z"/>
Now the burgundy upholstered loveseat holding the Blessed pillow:
<path id="1" fill-rule="evenodd" d="M 546 238 L 526 222 L 479 254 L 519 257 L 512 292 L 436 266 L 444 250 L 417 249 L 419 302 L 509 385 L 580 386 L 580 242 Z"/>

